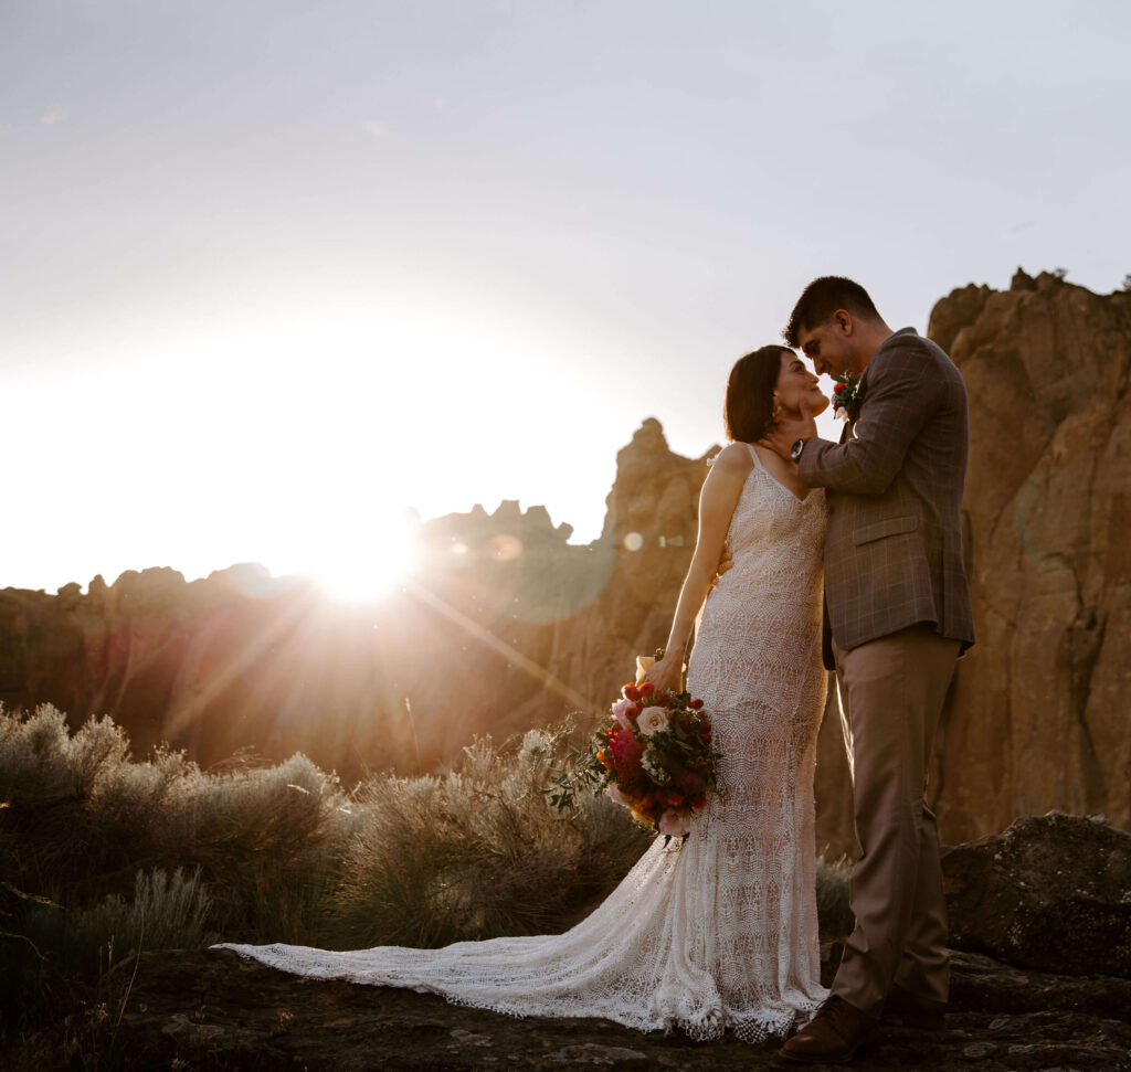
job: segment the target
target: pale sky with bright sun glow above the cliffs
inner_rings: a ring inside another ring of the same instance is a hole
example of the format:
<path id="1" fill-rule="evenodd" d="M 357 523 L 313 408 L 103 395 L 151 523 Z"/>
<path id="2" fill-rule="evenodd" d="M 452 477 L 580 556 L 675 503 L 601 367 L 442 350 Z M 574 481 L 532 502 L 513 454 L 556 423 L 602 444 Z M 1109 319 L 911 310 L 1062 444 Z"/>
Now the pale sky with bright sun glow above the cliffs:
<path id="1" fill-rule="evenodd" d="M 812 277 L 1131 273 L 1123 0 L 3 0 L 0 587 L 601 528 Z M 383 552 L 381 552 L 383 553 Z M 378 555 L 380 556 L 380 555 Z"/>

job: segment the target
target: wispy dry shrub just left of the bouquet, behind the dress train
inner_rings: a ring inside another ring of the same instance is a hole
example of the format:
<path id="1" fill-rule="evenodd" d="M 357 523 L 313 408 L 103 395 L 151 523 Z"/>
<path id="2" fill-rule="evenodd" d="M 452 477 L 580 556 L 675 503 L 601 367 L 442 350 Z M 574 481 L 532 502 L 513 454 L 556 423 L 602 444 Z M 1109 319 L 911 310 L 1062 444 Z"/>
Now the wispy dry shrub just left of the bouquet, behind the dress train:
<path id="1" fill-rule="evenodd" d="M 342 945 L 437 946 L 553 933 L 606 893 L 650 835 L 607 799 L 554 812 L 542 788 L 560 735 L 490 740 L 442 776 L 372 778 L 336 892 Z"/>

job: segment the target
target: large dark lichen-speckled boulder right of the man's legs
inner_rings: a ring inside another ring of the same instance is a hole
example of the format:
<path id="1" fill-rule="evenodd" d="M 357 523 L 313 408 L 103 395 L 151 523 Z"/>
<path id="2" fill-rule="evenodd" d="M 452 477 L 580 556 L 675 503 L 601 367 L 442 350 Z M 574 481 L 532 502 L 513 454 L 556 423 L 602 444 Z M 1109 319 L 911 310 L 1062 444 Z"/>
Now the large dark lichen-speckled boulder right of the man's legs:
<path id="1" fill-rule="evenodd" d="M 1068 975 L 1131 978 L 1131 835 L 1050 812 L 943 851 L 956 949 Z"/>

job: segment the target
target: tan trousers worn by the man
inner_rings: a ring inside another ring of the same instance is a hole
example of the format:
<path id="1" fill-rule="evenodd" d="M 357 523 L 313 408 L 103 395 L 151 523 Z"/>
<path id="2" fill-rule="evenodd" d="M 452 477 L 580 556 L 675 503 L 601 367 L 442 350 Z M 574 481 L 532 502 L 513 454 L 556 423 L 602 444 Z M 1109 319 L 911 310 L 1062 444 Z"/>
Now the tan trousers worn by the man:
<path id="1" fill-rule="evenodd" d="M 852 651 L 834 643 L 863 855 L 852 874 L 856 927 L 832 993 L 872 1015 L 893 984 L 934 1001 L 949 992 L 939 835 L 925 793 L 959 647 L 930 624 Z"/>

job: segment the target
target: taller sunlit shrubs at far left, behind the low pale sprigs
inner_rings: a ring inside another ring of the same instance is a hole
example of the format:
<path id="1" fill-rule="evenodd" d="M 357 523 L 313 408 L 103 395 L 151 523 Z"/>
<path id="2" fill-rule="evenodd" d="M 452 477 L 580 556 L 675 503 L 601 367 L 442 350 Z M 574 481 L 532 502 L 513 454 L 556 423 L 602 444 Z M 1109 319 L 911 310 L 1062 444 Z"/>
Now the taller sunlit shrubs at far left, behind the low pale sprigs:
<path id="1" fill-rule="evenodd" d="M 139 868 L 199 868 L 210 926 L 249 941 L 311 942 L 351 829 L 333 775 L 294 755 L 206 773 L 181 752 L 143 762 L 109 718 L 75 734 L 44 706 L 0 711 L 0 867 L 71 911 L 129 896 Z"/>

